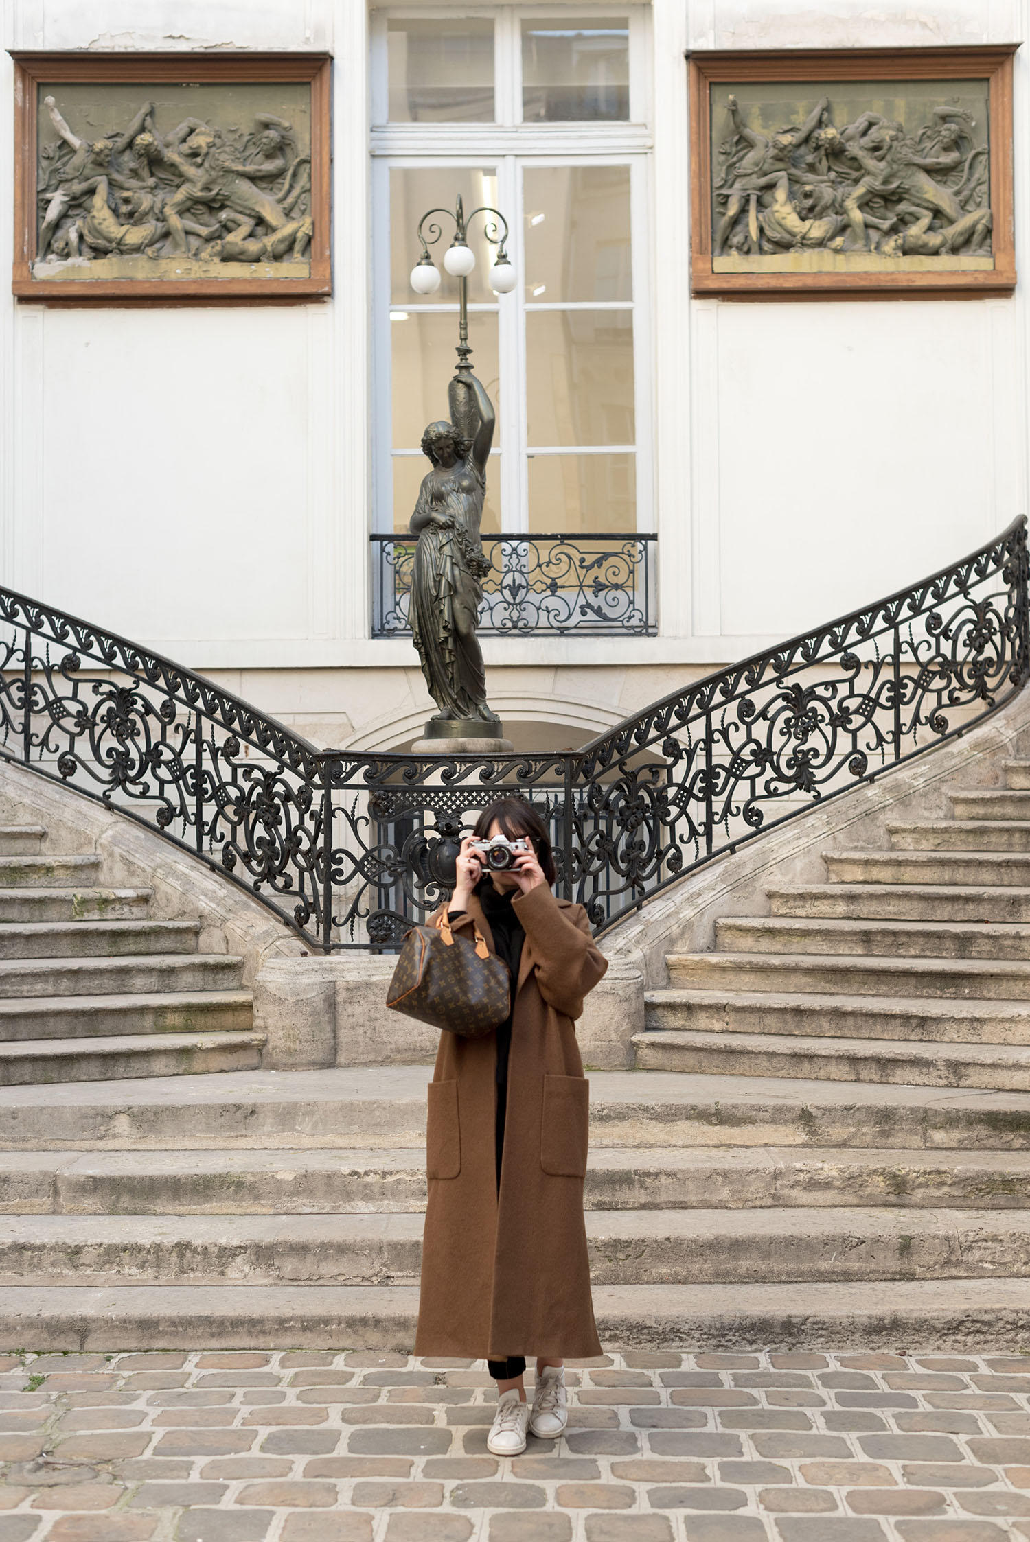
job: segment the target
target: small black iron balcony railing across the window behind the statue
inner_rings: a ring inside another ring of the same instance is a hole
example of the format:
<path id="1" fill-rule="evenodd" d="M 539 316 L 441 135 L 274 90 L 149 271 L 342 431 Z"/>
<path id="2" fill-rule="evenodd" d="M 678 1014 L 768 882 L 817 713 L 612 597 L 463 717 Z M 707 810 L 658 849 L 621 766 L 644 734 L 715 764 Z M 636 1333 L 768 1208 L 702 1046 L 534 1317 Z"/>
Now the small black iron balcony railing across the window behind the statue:
<path id="1" fill-rule="evenodd" d="M 484 535 L 480 632 L 645 637 L 657 629 L 657 537 Z M 413 535 L 372 537 L 373 637 L 410 637 Z"/>

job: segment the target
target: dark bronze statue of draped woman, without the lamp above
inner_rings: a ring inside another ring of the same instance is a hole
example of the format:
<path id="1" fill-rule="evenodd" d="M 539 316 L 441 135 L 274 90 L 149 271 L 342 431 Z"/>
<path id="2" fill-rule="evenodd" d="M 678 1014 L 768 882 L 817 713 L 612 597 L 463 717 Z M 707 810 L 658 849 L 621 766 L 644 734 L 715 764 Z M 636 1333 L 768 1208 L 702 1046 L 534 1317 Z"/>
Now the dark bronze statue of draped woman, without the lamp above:
<path id="1" fill-rule="evenodd" d="M 486 671 L 476 640 L 481 578 L 490 571 L 480 543 L 486 461 L 493 439 L 493 406 L 472 367 L 463 362 L 447 389 L 450 423 L 430 423 L 422 478 L 410 520 L 418 535 L 410 620 L 429 694 L 439 712 L 427 739 L 492 739 L 501 720 L 486 703 Z"/>

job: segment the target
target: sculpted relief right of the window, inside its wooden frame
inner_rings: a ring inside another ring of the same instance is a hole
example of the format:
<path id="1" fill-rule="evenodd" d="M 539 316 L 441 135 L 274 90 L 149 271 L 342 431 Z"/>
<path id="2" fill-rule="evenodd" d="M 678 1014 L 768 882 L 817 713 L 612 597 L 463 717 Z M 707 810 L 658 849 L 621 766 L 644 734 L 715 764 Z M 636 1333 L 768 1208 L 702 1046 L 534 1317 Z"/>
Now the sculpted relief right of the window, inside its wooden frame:
<path id="1" fill-rule="evenodd" d="M 987 85 L 712 93 L 715 271 L 990 268 Z"/>

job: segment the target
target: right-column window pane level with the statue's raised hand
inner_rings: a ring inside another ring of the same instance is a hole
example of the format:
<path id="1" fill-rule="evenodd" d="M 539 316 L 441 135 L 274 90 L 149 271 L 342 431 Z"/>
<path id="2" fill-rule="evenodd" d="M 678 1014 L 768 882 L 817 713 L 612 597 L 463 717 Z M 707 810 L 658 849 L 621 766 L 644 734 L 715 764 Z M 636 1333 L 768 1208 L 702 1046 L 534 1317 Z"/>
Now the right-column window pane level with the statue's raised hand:
<path id="1" fill-rule="evenodd" d="M 634 444 L 629 310 L 526 315 L 529 444 Z"/>

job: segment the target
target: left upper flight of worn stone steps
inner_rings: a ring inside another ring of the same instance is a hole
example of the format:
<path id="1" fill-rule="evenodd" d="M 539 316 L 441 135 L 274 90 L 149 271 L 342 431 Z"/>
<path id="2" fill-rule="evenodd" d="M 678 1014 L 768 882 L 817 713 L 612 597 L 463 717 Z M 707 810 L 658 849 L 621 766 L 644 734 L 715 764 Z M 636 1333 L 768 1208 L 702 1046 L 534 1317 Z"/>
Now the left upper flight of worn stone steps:
<path id="1" fill-rule="evenodd" d="M 100 868 L 0 827 L 0 1086 L 258 1066 L 242 959 L 199 953 L 196 921 L 148 919 L 151 890 Z"/>

